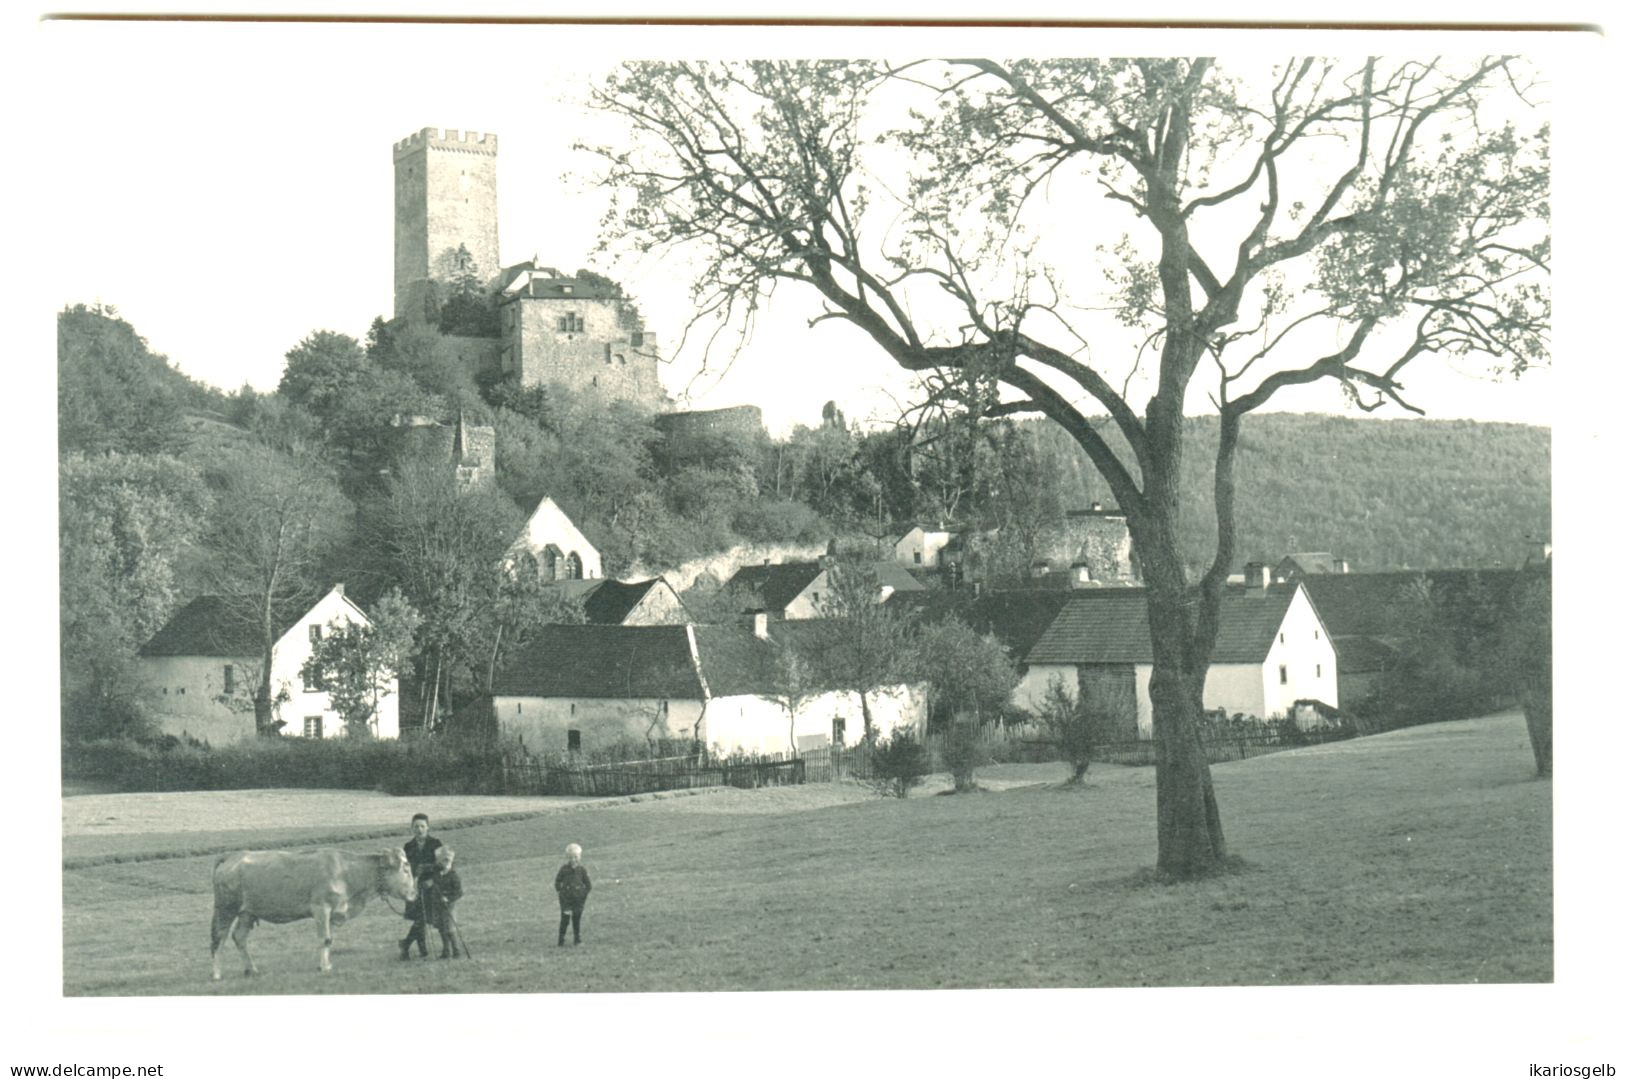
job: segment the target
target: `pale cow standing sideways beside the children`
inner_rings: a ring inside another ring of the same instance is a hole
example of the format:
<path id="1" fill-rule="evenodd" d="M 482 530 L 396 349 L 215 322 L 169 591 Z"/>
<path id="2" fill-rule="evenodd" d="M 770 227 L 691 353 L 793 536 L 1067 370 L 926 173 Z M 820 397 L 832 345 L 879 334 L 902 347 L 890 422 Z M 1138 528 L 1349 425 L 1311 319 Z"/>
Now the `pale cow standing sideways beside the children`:
<path id="1" fill-rule="evenodd" d="M 333 968 L 333 926 L 354 918 L 372 895 L 418 899 L 406 852 L 396 847 L 377 855 L 322 848 L 239 850 L 214 863 L 214 920 L 210 923 L 210 957 L 219 982 L 219 949 L 229 936 L 242 952 L 242 973 L 258 970 L 249 956 L 249 931 L 260 921 L 280 925 L 315 918 L 317 970 Z"/>

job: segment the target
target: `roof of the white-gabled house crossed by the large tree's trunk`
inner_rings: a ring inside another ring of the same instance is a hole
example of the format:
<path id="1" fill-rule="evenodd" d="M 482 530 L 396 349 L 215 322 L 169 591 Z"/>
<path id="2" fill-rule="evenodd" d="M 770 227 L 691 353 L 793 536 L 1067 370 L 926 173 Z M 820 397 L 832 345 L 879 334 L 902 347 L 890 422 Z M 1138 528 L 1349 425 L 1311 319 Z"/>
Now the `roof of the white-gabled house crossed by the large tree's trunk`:
<path id="1" fill-rule="evenodd" d="M 1214 663 L 1261 663 L 1300 585 L 1261 595 L 1225 588 Z M 1150 663 L 1144 588 L 1079 588 L 1027 653 L 1027 663 Z"/>

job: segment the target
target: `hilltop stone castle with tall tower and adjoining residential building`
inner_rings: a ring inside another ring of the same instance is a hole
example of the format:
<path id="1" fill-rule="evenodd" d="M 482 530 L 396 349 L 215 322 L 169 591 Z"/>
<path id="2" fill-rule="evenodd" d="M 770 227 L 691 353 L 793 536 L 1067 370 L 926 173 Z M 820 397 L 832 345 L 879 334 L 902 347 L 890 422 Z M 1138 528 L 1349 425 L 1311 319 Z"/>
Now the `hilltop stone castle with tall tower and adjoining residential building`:
<path id="1" fill-rule="evenodd" d="M 442 348 L 476 374 L 671 408 L 655 335 L 618 286 L 536 260 L 500 266 L 497 136 L 426 127 L 395 143 L 395 318 L 445 330 L 442 306 L 470 284 L 496 317 Z"/>

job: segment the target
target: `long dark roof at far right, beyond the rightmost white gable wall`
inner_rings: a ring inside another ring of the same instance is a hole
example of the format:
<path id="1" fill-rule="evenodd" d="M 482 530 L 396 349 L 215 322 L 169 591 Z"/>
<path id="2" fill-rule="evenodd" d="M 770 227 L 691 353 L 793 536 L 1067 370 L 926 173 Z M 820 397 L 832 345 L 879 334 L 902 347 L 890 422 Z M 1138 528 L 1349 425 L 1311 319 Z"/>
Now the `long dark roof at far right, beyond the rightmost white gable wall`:
<path id="1" fill-rule="evenodd" d="M 1404 639 L 1414 632 L 1419 590 L 1446 611 L 1474 590 L 1511 601 L 1516 569 L 1430 569 L 1388 574 L 1311 574 L 1302 578 L 1332 637 Z"/>

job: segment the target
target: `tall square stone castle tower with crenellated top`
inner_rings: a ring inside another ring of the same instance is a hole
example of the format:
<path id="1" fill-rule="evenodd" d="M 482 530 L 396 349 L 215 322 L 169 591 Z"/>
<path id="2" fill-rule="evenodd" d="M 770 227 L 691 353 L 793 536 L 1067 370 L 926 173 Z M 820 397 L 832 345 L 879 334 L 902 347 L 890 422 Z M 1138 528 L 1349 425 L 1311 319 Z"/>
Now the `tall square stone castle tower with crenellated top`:
<path id="1" fill-rule="evenodd" d="M 424 283 L 457 276 L 458 247 L 496 280 L 497 136 L 426 127 L 395 143 L 396 318 L 422 317 Z"/>

